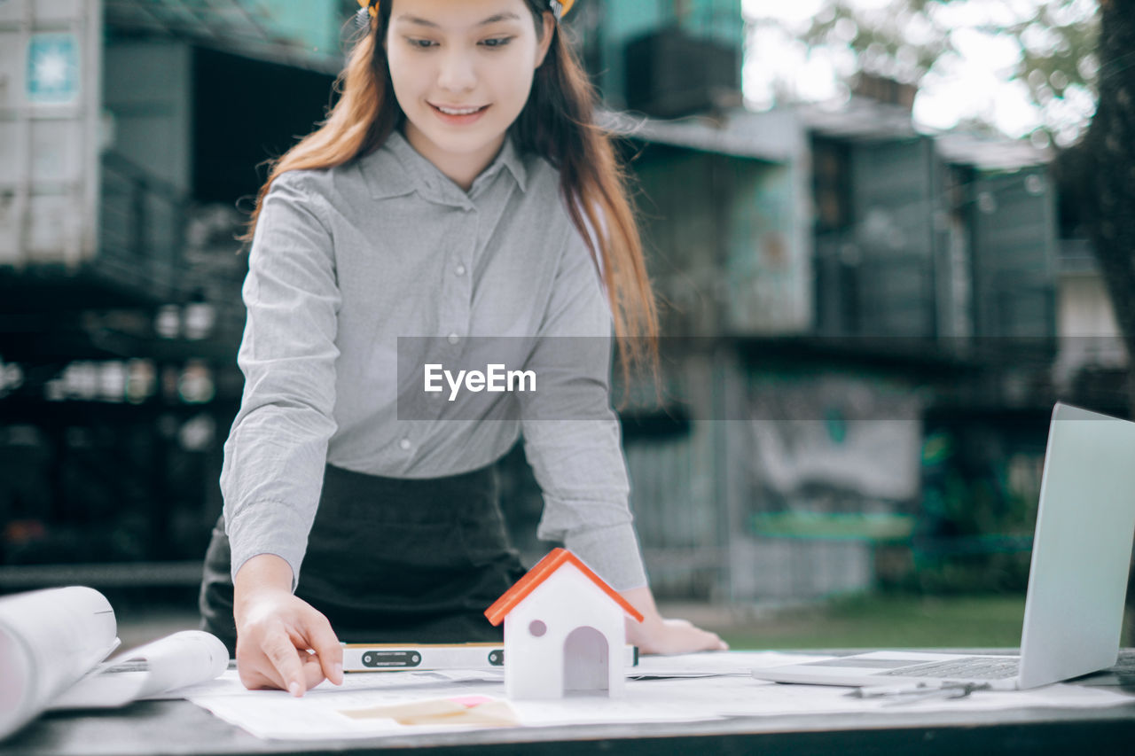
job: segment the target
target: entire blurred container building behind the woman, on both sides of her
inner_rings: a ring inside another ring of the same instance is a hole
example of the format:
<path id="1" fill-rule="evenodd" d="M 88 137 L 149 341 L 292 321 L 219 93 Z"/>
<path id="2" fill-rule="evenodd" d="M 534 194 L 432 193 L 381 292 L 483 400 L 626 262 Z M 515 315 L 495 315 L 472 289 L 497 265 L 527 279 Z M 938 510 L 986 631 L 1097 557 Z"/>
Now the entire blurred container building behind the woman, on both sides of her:
<path id="1" fill-rule="evenodd" d="M 1125 411 L 1049 156 L 920 133 L 869 77 L 749 112 L 737 0 L 577 6 L 663 304 L 662 401 L 620 387 L 655 590 L 1019 587 L 1052 401 Z M 0 5 L 0 590 L 199 580 L 242 388 L 234 235 L 323 118 L 356 8 Z M 519 450 L 502 467 L 538 557 L 538 489 Z"/>

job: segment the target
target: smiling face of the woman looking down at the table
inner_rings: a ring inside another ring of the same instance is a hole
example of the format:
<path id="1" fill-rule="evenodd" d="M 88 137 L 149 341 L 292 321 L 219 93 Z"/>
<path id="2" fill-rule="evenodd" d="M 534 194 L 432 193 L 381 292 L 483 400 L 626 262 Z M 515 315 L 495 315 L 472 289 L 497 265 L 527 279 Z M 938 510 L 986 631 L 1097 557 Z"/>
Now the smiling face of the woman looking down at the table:
<path id="1" fill-rule="evenodd" d="M 406 138 L 468 188 L 528 102 L 555 19 L 524 0 L 394 0 L 386 48 Z"/>

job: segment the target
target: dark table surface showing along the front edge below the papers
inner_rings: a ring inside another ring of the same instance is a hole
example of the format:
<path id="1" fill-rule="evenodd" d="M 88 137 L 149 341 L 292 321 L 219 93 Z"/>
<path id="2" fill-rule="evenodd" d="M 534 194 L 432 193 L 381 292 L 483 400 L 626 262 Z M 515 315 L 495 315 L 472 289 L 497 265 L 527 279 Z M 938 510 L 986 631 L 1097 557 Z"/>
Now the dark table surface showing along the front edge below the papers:
<path id="1" fill-rule="evenodd" d="M 854 649 L 861 652 L 865 649 Z M 926 649 L 931 650 L 931 649 Z M 933 649 L 944 650 L 944 649 Z M 1015 649 L 949 649 L 1014 653 Z M 847 654 L 851 649 L 817 653 Z M 503 728 L 373 740 L 261 740 L 186 700 L 136 702 L 121 709 L 48 713 L 0 744 L 0 756 L 351 754 L 415 748 L 448 754 L 1135 754 L 1135 649 L 1107 673 L 1077 684 L 1133 695 L 1092 708 L 863 712 L 755 716 L 708 722 Z"/>

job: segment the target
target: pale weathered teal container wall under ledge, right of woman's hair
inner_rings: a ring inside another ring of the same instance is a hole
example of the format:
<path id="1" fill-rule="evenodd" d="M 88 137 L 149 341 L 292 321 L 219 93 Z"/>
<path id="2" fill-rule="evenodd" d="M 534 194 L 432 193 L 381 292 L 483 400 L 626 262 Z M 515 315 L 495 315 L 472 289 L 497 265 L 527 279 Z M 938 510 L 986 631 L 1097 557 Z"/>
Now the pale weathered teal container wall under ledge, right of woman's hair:
<path id="1" fill-rule="evenodd" d="M 633 123 L 633 121 L 632 121 Z M 807 145 L 791 114 L 641 120 L 632 163 L 667 336 L 813 328 Z"/>

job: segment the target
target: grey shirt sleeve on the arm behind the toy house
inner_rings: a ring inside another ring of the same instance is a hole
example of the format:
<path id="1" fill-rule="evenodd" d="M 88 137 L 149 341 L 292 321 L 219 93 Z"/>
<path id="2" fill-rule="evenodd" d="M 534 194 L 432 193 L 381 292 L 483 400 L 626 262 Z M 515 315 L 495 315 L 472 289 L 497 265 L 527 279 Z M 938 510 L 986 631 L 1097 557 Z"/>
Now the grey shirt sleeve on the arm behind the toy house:
<path id="1" fill-rule="evenodd" d="M 521 400 L 524 454 L 544 493 L 537 537 L 558 540 L 616 590 L 647 585 L 611 409 L 613 322 L 596 264 L 571 228 Z"/>

